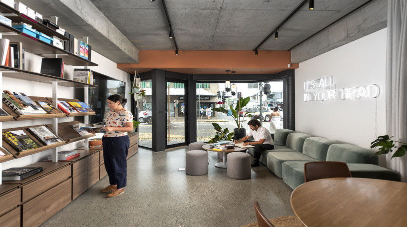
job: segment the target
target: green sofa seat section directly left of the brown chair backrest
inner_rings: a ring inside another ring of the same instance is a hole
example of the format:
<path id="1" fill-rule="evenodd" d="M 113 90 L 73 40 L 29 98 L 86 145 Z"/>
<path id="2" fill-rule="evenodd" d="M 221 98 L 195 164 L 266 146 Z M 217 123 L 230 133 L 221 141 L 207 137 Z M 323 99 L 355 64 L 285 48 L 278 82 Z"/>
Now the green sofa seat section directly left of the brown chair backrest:
<path id="1" fill-rule="evenodd" d="M 283 163 L 281 168 L 283 181 L 290 186 L 290 188 L 295 189 L 304 184 L 304 164 L 306 163 L 307 161 L 288 161 Z"/>

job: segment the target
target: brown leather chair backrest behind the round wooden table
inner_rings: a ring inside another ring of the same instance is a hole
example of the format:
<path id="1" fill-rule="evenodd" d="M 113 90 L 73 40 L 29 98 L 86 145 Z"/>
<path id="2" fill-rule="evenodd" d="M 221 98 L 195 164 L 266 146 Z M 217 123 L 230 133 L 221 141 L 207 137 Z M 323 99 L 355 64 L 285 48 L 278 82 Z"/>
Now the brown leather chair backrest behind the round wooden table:
<path id="1" fill-rule="evenodd" d="M 307 162 L 304 164 L 305 182 L 323 178 L 352 177 L 344 162 Z"/>

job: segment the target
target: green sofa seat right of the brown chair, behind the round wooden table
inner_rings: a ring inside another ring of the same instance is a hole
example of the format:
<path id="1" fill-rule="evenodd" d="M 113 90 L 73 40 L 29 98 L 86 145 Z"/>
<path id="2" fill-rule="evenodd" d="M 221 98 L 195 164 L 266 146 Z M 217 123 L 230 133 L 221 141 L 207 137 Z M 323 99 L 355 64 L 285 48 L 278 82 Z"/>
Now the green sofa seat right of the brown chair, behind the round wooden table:
<path id="1" fill-rule="evenodd" d="M 381 166 L 373 164 L 360 164 L 350 163 L 348 164 L 352 177 L 360 178 L 374 178 L 389 181 L 400 181 L 400 174 L 396 171 L 386 169 Z"/>

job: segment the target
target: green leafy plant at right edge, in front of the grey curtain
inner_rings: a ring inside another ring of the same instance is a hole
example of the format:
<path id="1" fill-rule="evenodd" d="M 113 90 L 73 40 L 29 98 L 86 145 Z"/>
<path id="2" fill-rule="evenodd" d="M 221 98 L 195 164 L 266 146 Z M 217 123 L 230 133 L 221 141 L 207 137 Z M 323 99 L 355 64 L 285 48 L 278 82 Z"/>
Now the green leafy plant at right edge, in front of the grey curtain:
<path id="1" fill-rule="evenodd" d="M 378 155 L 383 155 L 383 154 L 388 154 L 389 152 L 393 152 L 394 148 L 397 148 L 397 151 L 393 154 L 392 158 L 394 157 L 402 157 L 406 154 L 407 150 L 407 144 L 400 142 L 400 141 L 395 141 L 392 140 L 392 137 L 389 137 L 389 135 L 385 136 L 379 136 L 377 140 L 373 141 L 370 146 L 371 148 L 379 148 L 379 151 L 375 153 L 376 156 Z M 394 142 L 403 144 L 402 146 L 396 146 L 393 144 Z"/>

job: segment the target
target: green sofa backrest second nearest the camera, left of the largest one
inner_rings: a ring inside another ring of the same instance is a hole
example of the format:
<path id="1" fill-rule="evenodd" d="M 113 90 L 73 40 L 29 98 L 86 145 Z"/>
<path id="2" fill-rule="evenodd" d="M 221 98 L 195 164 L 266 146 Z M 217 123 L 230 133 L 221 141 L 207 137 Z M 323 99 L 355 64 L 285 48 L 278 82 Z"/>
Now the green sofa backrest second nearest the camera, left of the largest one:
<path id="1" fill-rule="evenodd" d="M 314 159 L 326 161 L 329 146 L 336 143 L 322 137 L 309 137 L 304 141 L 303 153 Z"/>

